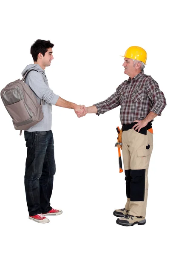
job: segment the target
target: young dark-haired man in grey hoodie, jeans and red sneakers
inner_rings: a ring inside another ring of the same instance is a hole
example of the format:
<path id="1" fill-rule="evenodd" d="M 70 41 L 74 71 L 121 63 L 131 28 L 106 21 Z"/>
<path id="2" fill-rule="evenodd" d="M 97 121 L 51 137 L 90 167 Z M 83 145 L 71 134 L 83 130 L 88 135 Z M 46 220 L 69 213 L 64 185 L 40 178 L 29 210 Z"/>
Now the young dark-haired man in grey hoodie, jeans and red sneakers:
<path id="1" fill-rule="evenodd" d="M 34 64 L 26 66 L 22 72 L 24 76 L 28 70 L 32 70 L 26 76 L 25 82 L 33 90 L 37 101 L 43 100 L 43 119 L 24 132 L 27 147 L 25 189 L 29 219 L 39 223 L 49 222 L 46 215 L 62 213 L 62 210 L 53 209 L 50 206 L 53 177 L 56 171 L 51 131 L 52 105 L 72 108 L 74 111 L 81 112 L 82 116 L 86 114 L 85 109 L 80 109 L 79 105 L 62 99 L 48 86 L 45 67 L 51 65 L 53 47 L 54 44 L 50 41 L 35 41 L 31 46 Z"/>

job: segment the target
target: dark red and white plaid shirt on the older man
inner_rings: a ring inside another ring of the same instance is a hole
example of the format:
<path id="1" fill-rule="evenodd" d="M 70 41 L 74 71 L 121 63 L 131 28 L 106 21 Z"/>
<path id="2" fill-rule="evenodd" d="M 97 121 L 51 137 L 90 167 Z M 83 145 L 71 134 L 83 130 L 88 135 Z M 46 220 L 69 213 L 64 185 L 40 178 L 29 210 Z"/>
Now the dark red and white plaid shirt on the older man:
<path id="1" fill-rule="evenodd" d="M 120 84 L 108 99 L 94 105 L 97 108 L 97 115 L 121 105 L 120 121 L 128 125 L 135 120 L 143 120 L 150 111 L 161 116 L 166 99 L 158 83 L 141 71 L 133 79 L 129 77 Z"/>

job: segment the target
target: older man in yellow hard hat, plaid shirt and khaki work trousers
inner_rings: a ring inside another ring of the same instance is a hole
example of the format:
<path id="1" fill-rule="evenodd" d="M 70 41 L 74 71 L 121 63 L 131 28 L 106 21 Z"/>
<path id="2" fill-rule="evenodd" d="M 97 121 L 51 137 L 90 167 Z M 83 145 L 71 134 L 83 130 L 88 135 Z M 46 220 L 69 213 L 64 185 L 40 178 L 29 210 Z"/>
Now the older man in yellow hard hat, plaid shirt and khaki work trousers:
<path id="1" fill-rule="evenodd" d="M 124 58 L 124 81 L 108 99 L 87 108 L 87 113 L 103 114 L 121 105 L 122 153 L 125 167 L 127 203 L 113 214 L 122 226 L 146 223 L 147 173 L 153 149 L 152 123 L 166 106 L 164 93 L 157 82 L 144 74 L 147 53 L 141 47 L 127 49 Z M 82 109 L 85 107 L 82 107 Z M 81 113 L 77 113 L 81 117 Z"/>

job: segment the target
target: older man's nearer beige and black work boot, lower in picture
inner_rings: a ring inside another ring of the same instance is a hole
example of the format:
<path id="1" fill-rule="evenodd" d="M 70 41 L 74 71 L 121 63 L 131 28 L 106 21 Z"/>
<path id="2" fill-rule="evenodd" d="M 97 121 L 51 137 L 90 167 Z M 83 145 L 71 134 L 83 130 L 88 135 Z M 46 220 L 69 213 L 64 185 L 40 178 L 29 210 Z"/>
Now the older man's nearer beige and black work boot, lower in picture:
<path id="1" fill-rule="evenodd" d="M 146 223 L 146 219 L 142 216 L 133 216 L 128 214 L 123 218 L 118 218 L 116 223 L 122 226 L 133 226 L 135 224 L 144 225 Z"/>

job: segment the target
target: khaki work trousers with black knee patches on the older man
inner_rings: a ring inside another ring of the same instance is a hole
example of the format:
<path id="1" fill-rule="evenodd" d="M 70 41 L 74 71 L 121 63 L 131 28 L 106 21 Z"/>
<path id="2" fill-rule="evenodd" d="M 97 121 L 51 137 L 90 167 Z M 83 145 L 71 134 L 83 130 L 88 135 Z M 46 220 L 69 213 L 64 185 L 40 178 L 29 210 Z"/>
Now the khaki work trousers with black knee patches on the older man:
<path id="1" fill-rule="evenodd" d="M 148 167 L 153 150 L 153 134 L 140 134 L 134 129 L 122 132 L 122 154 L 125 168 L 127 203 L 130 215 L 146 215 Z"/>

